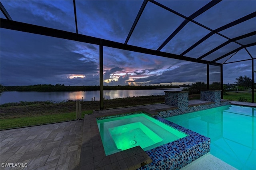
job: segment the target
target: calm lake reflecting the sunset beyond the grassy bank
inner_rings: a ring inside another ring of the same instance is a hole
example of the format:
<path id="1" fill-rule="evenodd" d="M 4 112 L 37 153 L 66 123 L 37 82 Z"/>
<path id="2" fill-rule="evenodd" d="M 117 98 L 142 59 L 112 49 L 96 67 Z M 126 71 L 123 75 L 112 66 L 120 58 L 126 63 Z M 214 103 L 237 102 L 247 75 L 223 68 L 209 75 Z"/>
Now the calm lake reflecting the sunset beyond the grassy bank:
<path id="1" fill-rule="evenodd" d="M 104 90 L 104 98 L 124 98 L 133 96 L 164 95 L 164 91 L 181 91 L 183 88 L 151 89 L 151 90 Z M 79 91 L 79 92 L 4 92 L 1 96 L 1 104 L 10 102 L 34 102 L 51 100 L 62 102 L 63 100 L 100 100 L 100 91 Z"/>

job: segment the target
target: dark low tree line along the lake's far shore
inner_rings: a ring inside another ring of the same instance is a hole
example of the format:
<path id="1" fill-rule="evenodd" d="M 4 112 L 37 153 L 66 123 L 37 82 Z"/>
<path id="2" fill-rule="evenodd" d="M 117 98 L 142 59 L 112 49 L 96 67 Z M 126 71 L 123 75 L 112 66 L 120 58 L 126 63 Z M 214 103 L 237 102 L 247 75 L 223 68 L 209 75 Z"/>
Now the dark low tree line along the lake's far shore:
<path id="1" fill-rule="evenodd" d="M 65 84 L 36 84 L 30 86 L 5 86 L 4 91 L 20 91 L 20 92 L 63 92 L 63 91 L 95 91 L 100 90 L 100 86 L 65 86 Z M 179 86 L 104 86 L 104 90 L 147 90 L 147 89 L 163 89 L 163 88 L 179 88 Z"/>

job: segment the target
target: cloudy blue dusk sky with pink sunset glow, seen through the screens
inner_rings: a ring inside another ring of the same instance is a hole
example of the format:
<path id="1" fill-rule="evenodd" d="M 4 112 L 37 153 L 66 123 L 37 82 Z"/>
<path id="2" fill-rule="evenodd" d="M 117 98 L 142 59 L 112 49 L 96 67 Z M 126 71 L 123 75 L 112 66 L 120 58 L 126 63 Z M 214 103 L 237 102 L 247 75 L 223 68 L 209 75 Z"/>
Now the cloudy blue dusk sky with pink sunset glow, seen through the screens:
<path id="1" fill-rule="evenodd" d="M 210 1 L 157 1 L 190 16 Z M 76 32 L 73 1 L 1 0 L 12 20 Z M 78 34 L 124 43 L 143 1 L 76 0 Z M 224 26 L 256 11 L 256 1 L 222 1 L 194 20 L 211 29 Z M 1 12 L 1 18 L 5 16 Z M 148 2 L 128 44 L 156 50 L 184 21 Z M 220 33 L 229 38 L 256 31 L 256 17 Z M 180 55 L 210 31 L 188 22 L 160 51 Z M 214 34 L 184 56 L 198 58 L 228 39 Z M 238 40 L 246 45 L 256 35 Z M 4 86 L 65 84 L 99 85 L 99 46 L 26 32 L 0 29 L 0 81 Z M 213 60 L 240 45 L 232 42 L 204 60 Z M 256 58 L 256 46 L 248 47 Z M 164 58 L 104 47 L 104 85 L 154 85 L 206 83 L 206 64 Z M 217 62 L 223 63 L 230 56 Z M 227 62 L 250 59 L 246 50 L 237 52 Z M 252 62 L 224 64 L 224 84 L 238 76 L 252 78 Z M 256 63 L 254 63 L 256 70 Z M 220 82 L 220 67 L 210 66 L 210 83 Z"/>

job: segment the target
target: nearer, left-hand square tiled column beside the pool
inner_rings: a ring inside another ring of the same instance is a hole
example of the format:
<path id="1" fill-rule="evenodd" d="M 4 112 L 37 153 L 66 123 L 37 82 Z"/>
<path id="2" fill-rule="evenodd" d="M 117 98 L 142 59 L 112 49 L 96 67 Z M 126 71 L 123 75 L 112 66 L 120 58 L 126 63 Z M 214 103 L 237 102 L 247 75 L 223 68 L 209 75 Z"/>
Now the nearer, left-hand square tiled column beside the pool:
<path id="1" fill-rule="evenodd" d="M 188 93 L 185 91 L 164 91 L 165 104 L 186 109 L 188 108 Z"/>

